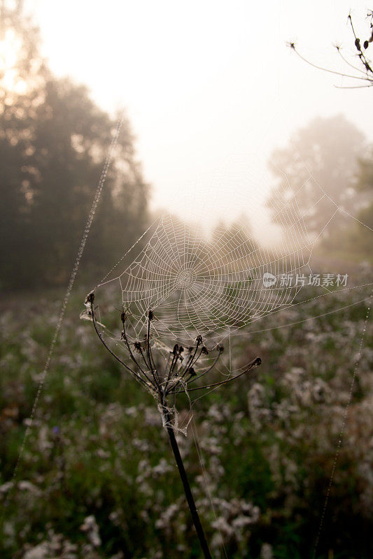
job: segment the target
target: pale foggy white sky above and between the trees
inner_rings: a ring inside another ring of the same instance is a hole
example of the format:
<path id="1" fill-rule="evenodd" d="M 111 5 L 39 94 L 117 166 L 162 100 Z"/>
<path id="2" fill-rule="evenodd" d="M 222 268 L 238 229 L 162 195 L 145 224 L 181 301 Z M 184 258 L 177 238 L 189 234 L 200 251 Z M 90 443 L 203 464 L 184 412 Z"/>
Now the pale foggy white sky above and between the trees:
<path id="1" fill-rule="evenodd" d="M 352 8 L 365 31 L 364 1 L 26 5 L 41 27 L 52 70 L 87 84 L 102 108 L 126 108 L 153 186 L 153 208 L 172 205 L 182 214 L 185 192 L 209 191 L 218 182 L 231 196 L 223 196 L 211 215 L 234 217 L 230 177 L 243 173 L 241 189 L 255 189 L 255 177 L 266 175 L 267 186 L 260 180 L 255 189 L 263 201 L 271 151 L 318 115 L 343 112 L 373 140 L 372 91 L 337 89 L 346 80 L 311 68 L 286 47 L 295 41 L 312 61 L 343 68 L 333 44 L 344 46 L 346 55 L 353 52 L 347 16 Z"/>

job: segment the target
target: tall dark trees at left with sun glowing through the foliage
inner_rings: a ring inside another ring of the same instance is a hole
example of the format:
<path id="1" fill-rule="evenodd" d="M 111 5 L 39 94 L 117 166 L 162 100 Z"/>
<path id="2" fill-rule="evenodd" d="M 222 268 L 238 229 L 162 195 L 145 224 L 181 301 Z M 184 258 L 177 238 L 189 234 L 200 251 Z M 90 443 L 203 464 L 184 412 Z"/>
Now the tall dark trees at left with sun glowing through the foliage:
<path id="1" fill-rule="evenodd" d="M 4 21 L 3 41 L 16 47 L 17 61 L 0 76 L 2 282 L 58 284 L 71 270 L 115 120 L 86 87 L 52 75 L 20 10 L 7 10 Z M 107 268 L 118 259 L 143 231 L 147 201 L 125 119 L 85 262 Z"/>

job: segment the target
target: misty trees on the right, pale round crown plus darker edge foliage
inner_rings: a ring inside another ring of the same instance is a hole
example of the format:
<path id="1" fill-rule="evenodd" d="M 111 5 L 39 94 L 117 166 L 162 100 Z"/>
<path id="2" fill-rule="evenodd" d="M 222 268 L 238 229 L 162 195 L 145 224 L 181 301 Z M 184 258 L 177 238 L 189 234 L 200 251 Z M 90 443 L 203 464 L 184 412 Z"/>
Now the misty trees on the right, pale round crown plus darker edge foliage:
<path id="1" fill-rule="evenodd" d="M 318 235 L 330 217 L 328 196 L 356 218 L 337 212 L 323 230 L 324 249 L 362 259 L 370 255 L 365 225 L 373 228 L 373 149 L 344 115 L 313 119 L 293 134 L 286 147 L 272 153 L 269 167 L 278 180 L 272 191 L 274 200 L 286 203 L 304 185 L 300 210 L 311 235 Z M 323 191 L 328 196 L 319 201 Z M 307 211 L 317 202 L 317 212 Z"/>

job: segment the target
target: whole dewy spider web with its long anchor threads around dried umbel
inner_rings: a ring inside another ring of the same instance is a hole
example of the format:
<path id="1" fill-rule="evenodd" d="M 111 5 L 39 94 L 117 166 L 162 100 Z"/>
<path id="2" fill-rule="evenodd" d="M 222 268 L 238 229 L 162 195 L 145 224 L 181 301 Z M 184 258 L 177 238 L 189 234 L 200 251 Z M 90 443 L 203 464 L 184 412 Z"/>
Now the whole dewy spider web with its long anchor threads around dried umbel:
<path id="1" fill-rule="evenodd" d="M 284 178 L 286 184 L 286 175 Z M 327 286 L 318 285 L 318 289 L 310 293 L 307 289 L 303 291 L 302 284 L 278 281 L 281 275 L 285 277 L 312 275 L 311 257 L 318 239 L 338 212 L 342 212 L 344 217 L 347 214 L 344 208 L 340 208 L 328 196 L 311 173 L 291 198 L 287 196 L 285 189 L 281 191 L 279 187 L 275 191 L 276 197 L 272 197 L 269 209 L 272 219 L 277 224 L 277 242 L 268 246 L 265 242 L 260 242 L 260 238 L 258 240 L 258 235 L 253 235 L 249 224 L 253 214 L 255 212 L 260 214 L 262 209 L 262 201 L 255 199 L 258 198 L 258 188 L 242 189 L 242 182 L 237 181 L 237 184 L 239 188 L 232 189 L 232 196 L 237 198 L 236 204 L 244 214 L 240 219 L 236 219 L 229 226 L 218 224 L 209 233 L 205 226 L 206 216 L 216 209 L 219 199 L 227 200 L 227 196 L 224 196 L 224 193 L 221 196 L 222 193 L 215 188 L 212 194 L 210 191 L 208 195 L 204 192 L 199 196 L 194 190 L 192 205 L 188 205 L 185 199 L 183 202 L 185 219 L 171 215 L 168 211 L 163 212 L 144 233 L 145 242 L 138 254 L 132 256 L 132 260 L 127 265 L 125 265 L 127 254 L 125 254 L 125 257 L 115 264 L 110 273 L 96 286 L 94 292 L 97 294 L 95 301 L 99 303 L 99 319 L 104 321 L 101 326 L 105 325 L 101 334 L 106 337 L 106 341 L 111 344 L 114 351 L 119 353 L 123 351 L 123 343 L 118 331 L 118 310 L 125 309 L 130 317 L 132 331 L 129 337 L 132 337 L 132 342 L 146 337 L 148 312 L 152 310 L 155 315 L 151 323 L 152 339 L 158 337 L 161 342 L 155 340 L 153 347 L 157 347 L 163 353 L 164 363 L 168 363 L 167 354 L 170 355 L 171 352 L 167 349 L 167 344 L 162 345 L 162 342 L 173 340 L 179 344 L 193 344 L 198 335 L 204 337 L 206 344 L 224 341 L 228 345 L 228 358 L 225 356 L 223 361 L 219 361 L 214 370 L 218 375 L 216 378 L 228 382 L 236 378 L 235 372 L 239 370 L 244 372 L 246 369 L 245 365 L 237 369 L 241 362 L 232 366 L 232 336 L 250 335 L 252 329 L 249 330 L 248 326 L 255 321 L 293 305 L 304 304 L 341 291 L 341 289 L 331 291 Z M 308 206 L 305 206 L 305 200 L 309 201 Z M 248 215 L 250 217 L 247 217 Z M 307 231 L 308 218 L 315 215 L 323 215 L 324 222 L 318 231 L 310 234 Z M 350 217 L 353 218 L 351 215 Z M 132 247 L 129 253 L 132 254 L 137 246 L 139 243 Z M 272 281 L 274 279 L 276 281 Z M 364 286 L 367 285 L 371 284 Z M 102 292 L 106 292 L 106 297 Z M 101 300 L 105 301 L 105 299 L 110 300 L 112 304 L 101 306 Z M 113 303 L 113 300 L 116 303 Z M 111 313 L 115 317 L 113 322 L 110 319 L 106 320 Z M 111 324 L 115 324 L 115 321 L 116 331 L 111 331 L 109 328 Z M 302 320 L 299 322 L 301 323 Z M 279 324 L 280 328 L 284 326 L 286 324 Z M 208 363 L 206 365 L 199 363 L 199 365 L 203 368 L 208 366 Z M 358 361 L 356 368 L 357 366 Z M 218 389 L 216 385 L 220 386 L 222 382 L 202 386 L 204 390 L 197 394 L 185 384 L 183 389 L 188 397 L 189 412 L 181 424 L 178 422 L 176 395 L 170 398 L 167 412 L 173 419 L 169 424 L 176 433 L 187 434 L 195 402 L 204 398 L 207 393 Z M 353 384 L 351 384 L 350 394 L 352 387 Z M 194 389 L 199 390 L 197 386 Z M 162 409 L 160 411 L 164 421 Z M 344 426 L 340 431 L 340 439 L 343 433 Z M 200 455 L 199 460 L 204 471 Z M 337 453 L 328 492 L 333 481 L 336 462 Z M 208 489 L 206 489 L 206 497 L 213 509 L 213 500 Z M 318 538 L 323 528 L 328 498 L 325 500 L 321 516 Z M 214 509 L 213 514 L 216 515 Z M 227 556 L 223 536 L 221 539 L 221 552 Z"/>

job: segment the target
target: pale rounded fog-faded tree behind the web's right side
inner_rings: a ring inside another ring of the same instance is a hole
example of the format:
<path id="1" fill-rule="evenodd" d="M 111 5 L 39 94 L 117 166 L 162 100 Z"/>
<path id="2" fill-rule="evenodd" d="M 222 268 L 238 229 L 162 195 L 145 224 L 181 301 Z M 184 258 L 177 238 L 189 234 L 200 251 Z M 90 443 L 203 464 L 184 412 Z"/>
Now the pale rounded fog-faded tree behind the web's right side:
<path id="1" fill-rule="evenodd" d="M 325 225 L 325 217 L 330 217 L 328 196 L 338 205 L 348 206 L 349 212 L 356 210 L 360 205 L 354 189 L 357 161 L 364 142 L 363 133 L 343 115 L 315 118 L 295 132 L 287 147 L 272 153 L 269 168 L 278 184 L 272 191 L 269 205 L 272 202 L 276 207 L 279 202 L 285 204 L 304 185 L 298 203 L 300 212 L 308 212 L 304 221 L 311 234 L 319 233 Z M 310 173 L 316 183 L 310 180 Z M 320 201 L 323 191 L 328 196 Z M 316 202 L 317 211 L 310 212 Z M 340 224 L 337 216 L 332 224 L 334 228 Z"/>

